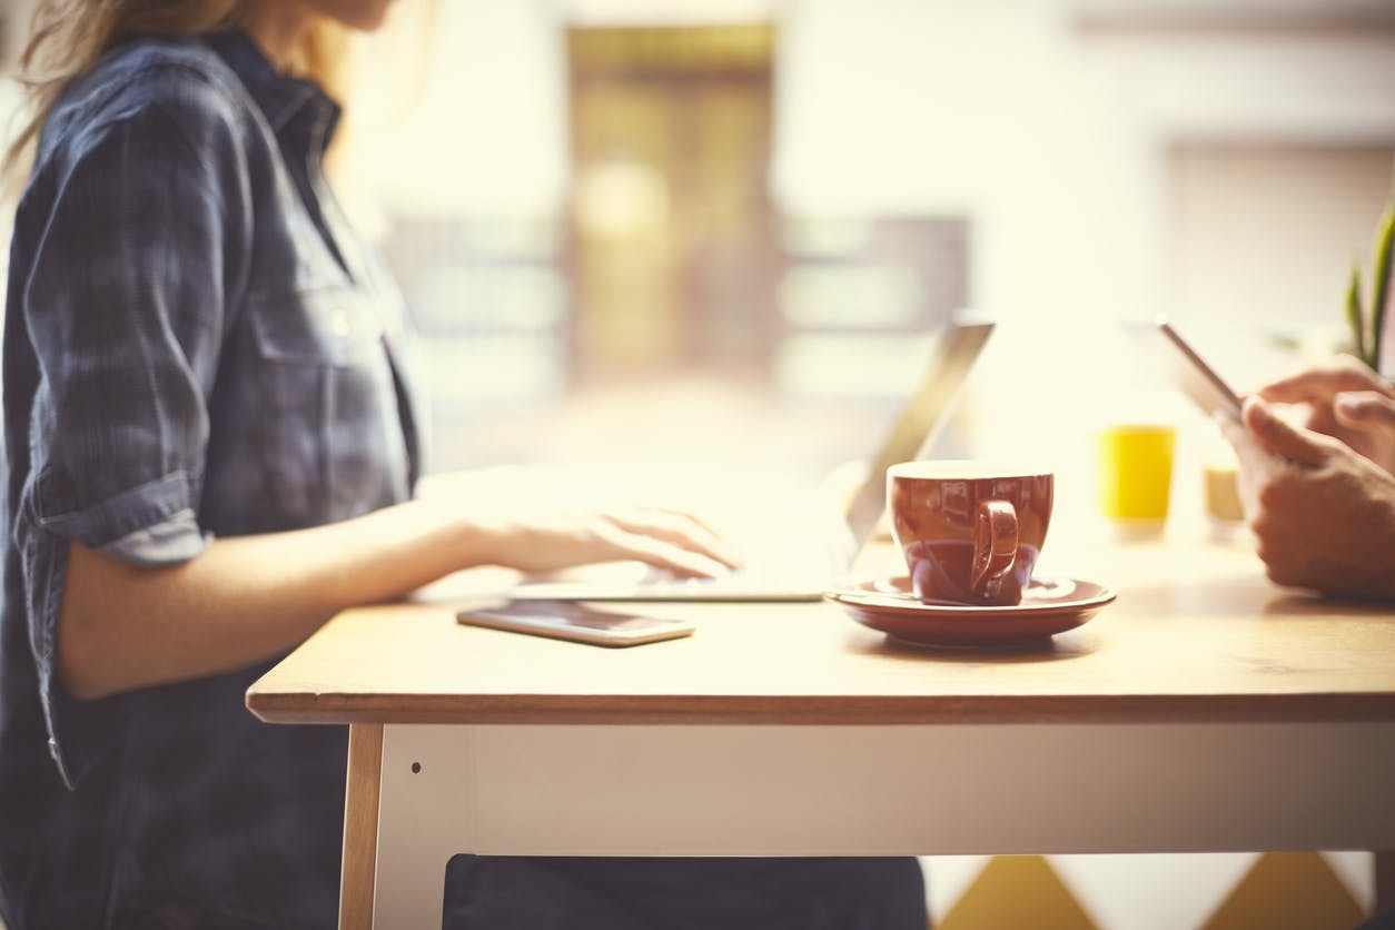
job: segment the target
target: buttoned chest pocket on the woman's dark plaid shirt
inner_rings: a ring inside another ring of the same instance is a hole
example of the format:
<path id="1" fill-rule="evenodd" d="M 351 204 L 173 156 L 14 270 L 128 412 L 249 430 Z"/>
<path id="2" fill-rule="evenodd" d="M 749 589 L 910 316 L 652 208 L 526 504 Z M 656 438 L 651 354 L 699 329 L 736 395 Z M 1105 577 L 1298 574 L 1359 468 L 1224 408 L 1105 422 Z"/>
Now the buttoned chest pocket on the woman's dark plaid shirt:
<path id="1" fill-rule="evenodd" d="M 278 523 L 356 516 L 400 495 L 402 425 L 379 308 L 352 287 L 248 301 L 258 498 Z"/>

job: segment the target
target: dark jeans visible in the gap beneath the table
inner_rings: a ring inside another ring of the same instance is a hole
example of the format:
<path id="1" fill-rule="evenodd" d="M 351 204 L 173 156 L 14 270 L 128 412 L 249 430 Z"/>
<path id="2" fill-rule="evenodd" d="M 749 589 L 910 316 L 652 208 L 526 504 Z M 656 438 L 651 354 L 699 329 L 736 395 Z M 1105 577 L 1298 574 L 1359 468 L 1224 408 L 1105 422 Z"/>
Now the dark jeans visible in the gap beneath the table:
<path id="1" fill-rule="evenodd" d="M 455 856 L 448 930 L 926 930 L 911 857 Z"/>

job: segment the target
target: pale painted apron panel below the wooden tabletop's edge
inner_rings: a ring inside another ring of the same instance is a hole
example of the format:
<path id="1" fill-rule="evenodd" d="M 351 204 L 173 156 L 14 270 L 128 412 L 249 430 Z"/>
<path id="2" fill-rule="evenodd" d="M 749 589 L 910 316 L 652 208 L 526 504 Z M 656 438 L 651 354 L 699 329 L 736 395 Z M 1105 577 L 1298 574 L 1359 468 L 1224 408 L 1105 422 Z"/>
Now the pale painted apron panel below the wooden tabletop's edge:
<path id="1" fill-rule="evenodd" d="M 386 725 L 375 912 L 456 852 L 1395 849 L 1392 785 L 1395 722 Z"/>

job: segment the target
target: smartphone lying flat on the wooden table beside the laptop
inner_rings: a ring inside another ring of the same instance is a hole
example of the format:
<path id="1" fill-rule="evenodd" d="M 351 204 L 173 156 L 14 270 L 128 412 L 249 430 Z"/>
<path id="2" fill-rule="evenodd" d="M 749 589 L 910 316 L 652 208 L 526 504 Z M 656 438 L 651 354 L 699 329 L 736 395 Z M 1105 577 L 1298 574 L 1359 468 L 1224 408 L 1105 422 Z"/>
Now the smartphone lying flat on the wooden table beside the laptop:
<path id="1" fill-rule="evenodd" d="M 502 607 L 460 611 L 456 620 L 593 646 L 658 643 L 692 636 L 696 629 L 689 620 L 601 609 L 583 601 L 511 601 Z"/>

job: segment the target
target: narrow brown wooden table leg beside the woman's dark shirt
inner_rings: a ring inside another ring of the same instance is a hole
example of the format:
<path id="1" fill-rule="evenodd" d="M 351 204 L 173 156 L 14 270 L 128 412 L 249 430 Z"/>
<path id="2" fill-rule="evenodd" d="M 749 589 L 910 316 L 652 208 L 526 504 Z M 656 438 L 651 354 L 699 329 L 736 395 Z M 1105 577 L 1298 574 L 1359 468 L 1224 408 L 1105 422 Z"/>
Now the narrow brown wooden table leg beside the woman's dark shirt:
<path id="1" fill-rule="evenodd" d="M 339 930 L 372 927 L 381 775 L 382 724 L 350 725 L 345 851 L 339 878 Z"/>

